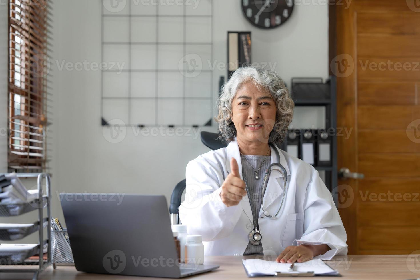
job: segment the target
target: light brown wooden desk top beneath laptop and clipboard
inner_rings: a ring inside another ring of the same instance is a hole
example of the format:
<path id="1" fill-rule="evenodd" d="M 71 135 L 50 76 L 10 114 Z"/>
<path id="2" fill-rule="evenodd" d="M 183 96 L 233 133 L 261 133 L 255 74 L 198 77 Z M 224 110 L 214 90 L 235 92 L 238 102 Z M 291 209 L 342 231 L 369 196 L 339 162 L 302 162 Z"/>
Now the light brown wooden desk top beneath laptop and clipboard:
<path id="1" fill-rule="evenodd" d="M 333 269 L 338 270 L 346 279 L 409 279 L 420 278 L 420 255 L 354 255 L 336 256 L 334 260 L 326 261 Z M 188 279 L 244 279 L 247 277 L 242 259 L 252 259 L 256 256 L 206 256 L 205 262 L 208 264 L 218 264 L 220 268 L 215 271 L 200 275 L 187 277 Z M 259 256 L 258 258 L 267 258 Z M 415 270 L 417 262 L 417 270 Z M 409 267 L 414 271 L 411 272 Z M 417 272 L 417 273 L 415 273 Z M 30 273 L 0 273 L 0 279 L 31 279 Z M 84 279 L 169 279 L 155 277 L 134 277 L 123 275 L 90 274 L 78 272 L 74 267 L 57 267 L 53 270 L 48 268 L 39 276 L 43 279 L 62 279 L 62 280 L 84 280 Z M 307 279 L 307 278 L 305 278 Z M 317 280 L 332 277 L 316 277 Z M 342 278 L 338 278 L 342 279 Z"/>

